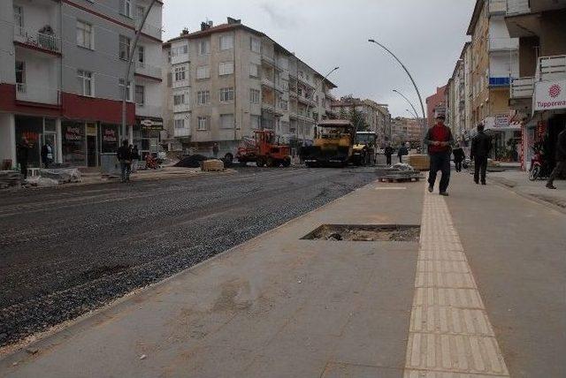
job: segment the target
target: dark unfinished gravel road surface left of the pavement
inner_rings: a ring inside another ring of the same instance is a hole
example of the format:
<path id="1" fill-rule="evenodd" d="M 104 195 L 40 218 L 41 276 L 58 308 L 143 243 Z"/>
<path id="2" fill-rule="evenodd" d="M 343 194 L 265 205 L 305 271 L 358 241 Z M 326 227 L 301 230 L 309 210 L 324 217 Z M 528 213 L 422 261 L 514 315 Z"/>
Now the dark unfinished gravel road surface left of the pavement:
<path id="1" fill-rule="evenodd" d="M 249 167 L 4 192 L 0 346 L 160 281 L 375 178 L 370 168 Z"/>

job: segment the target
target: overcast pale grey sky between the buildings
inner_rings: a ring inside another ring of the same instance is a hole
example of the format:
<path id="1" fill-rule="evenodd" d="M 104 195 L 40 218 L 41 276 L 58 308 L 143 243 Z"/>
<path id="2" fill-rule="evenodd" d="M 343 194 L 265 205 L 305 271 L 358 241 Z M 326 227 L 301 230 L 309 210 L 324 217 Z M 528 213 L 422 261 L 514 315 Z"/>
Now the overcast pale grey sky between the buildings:
<path id="1" fill-rule="evenodd" d="M 199 30 L 201 21 L 226 23 L 226 16 L 264 32 L 294 51 L 323 75 L 340 66 L 331 78 L 333 94 L 370 98 L 389 104 L 394 117 L 408 117 L 409 108 L 397 89 L 418 112 L 415 90 L 402 67 L 373 38 L 407 65 L 424 99 L 446 84 L 468 41 L 475 0 L 166 0 L 164 40 L 183 27 Z M 426 103 L 424 103 L 426 111 Z"/>

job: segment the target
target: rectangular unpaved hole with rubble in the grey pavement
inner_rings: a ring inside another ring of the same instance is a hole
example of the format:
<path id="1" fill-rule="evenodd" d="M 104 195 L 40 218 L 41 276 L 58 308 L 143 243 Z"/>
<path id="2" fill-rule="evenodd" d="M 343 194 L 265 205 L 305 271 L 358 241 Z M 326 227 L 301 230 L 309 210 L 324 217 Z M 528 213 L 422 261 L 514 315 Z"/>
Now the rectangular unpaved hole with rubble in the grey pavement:
<path id="1" fill-rule="evenodd" d="M 421 226 L 413 224 L 323 224 L 301 239 L 417 242 L 420 231 Z"/>

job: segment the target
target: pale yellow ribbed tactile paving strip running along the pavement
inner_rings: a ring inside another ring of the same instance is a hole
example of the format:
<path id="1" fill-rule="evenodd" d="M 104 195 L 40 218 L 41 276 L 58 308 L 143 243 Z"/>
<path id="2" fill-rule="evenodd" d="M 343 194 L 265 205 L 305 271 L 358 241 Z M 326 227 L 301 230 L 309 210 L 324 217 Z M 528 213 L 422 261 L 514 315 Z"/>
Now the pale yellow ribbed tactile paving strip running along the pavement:
<path id="1" fill-rule="evenodd" d="M 425 193 L 405 378 L 509 377 L 446 201 Z"/>

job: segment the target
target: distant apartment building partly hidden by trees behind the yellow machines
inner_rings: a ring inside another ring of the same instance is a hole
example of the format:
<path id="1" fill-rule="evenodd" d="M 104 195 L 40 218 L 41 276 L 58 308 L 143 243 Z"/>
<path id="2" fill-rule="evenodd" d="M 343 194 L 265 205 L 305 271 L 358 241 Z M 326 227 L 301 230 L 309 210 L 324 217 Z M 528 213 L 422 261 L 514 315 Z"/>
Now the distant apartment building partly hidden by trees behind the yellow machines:
<path id="1" fill-rule="evenodd" d="M 378 144 L 383 145 L 391 134 L 391 114 L 386 104 L 369 99 L 362 100 L 351 95 L 342 96 L 332 102 L 332 110 L 341 118 L 348 117 L 352 109 L 363 115 L 368 130 L 378 134 Z"/>

